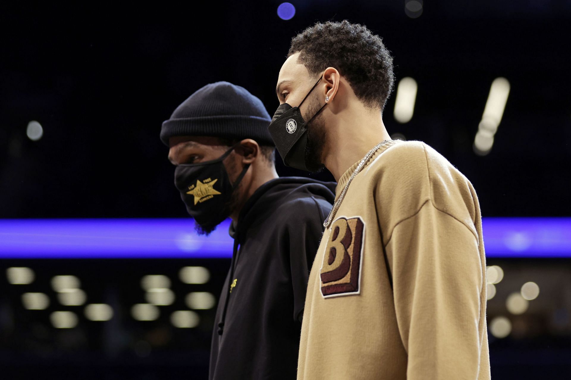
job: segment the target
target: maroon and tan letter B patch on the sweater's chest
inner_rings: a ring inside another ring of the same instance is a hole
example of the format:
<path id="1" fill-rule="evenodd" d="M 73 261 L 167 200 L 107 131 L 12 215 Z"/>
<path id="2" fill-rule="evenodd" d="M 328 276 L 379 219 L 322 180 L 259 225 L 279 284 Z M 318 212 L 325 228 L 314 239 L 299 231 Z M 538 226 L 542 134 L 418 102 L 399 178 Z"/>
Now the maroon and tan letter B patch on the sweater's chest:
<path id="1" fill-rule="evenodd" d="M 331 224 L 320 270 L 324 298 L 360 293 L 364 232 L 358 216 L 339 217 Z"/>

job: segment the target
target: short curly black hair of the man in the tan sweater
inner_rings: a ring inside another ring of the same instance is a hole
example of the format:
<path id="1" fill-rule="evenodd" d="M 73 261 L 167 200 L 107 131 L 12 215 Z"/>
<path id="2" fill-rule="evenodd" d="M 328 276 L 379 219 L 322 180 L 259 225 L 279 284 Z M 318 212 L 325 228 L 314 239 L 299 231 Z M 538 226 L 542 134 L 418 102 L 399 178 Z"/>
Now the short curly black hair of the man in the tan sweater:
<path id="1" fill-rule="evenodd" d="M 298 62 L 311 74 L 335 67 L 361 102 L 384 108 L 395 82 L 392 56 L 366 26 L 347 20 L 318 22 L 292 38 L 287 56 L 298 51 Z"/>

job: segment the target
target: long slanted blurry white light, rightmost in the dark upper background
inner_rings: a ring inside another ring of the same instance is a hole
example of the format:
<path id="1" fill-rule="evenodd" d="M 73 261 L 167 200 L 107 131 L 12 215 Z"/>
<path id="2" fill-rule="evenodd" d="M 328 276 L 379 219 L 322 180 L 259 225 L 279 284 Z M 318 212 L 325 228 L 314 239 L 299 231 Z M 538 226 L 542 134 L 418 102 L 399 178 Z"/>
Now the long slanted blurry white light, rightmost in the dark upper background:
<path id="1" fill-rule="evenodd" d="M 474 151 L 478 155 L 485 156 L 492 149 L 494 135 L 504 115 L 505 104 L 508 102 L 509 90 L 508 79 L 496 78 L 492 82 L 484 114 L 474 139 Z"/>

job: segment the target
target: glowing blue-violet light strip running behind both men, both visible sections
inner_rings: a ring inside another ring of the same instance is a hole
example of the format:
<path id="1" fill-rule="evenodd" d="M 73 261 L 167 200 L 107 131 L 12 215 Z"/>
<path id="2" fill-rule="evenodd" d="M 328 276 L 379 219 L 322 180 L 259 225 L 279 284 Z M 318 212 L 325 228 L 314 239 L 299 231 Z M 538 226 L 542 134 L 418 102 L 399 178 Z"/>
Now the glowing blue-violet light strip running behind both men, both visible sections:
<path id="1" fill-rule="evenodd" d="M 485 218 L 488 257 L 571 257 L 571 218 Z M 0 258 L 231 257 L 230 220 L 210 236 L 192 219 L 0 219 Z"/>

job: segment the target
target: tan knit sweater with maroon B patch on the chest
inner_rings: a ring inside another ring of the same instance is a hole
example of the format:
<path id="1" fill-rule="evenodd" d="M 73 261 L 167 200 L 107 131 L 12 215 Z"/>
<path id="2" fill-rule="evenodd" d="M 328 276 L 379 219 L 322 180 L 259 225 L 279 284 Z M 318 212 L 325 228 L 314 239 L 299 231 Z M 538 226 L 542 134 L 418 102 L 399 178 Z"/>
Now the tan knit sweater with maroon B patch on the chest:
<path id="1" fill-rule="evenodd" d="M 384 145 L 321 240 L 297 378 L 489 379 L 485 268 L 468 179 L 424 143 Z"/>

